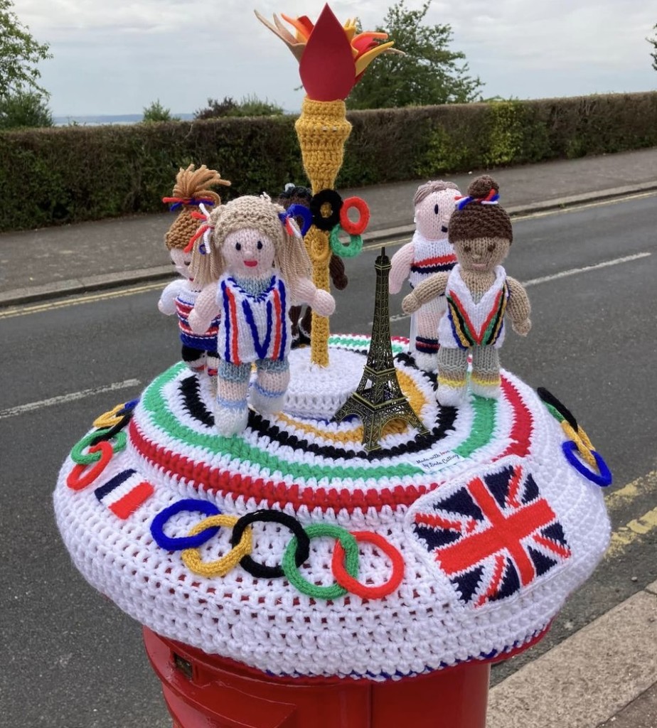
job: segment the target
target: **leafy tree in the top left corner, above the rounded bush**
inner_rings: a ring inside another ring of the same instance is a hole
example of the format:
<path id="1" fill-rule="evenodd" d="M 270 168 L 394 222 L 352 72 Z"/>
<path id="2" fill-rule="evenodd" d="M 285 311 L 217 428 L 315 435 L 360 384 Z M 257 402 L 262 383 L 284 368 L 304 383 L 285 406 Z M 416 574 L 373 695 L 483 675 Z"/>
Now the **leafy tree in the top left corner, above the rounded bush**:
<path id="1" fill-rule="evenodd" d="M 39 86 L 37 64 L 52 58 L 47 43 L 38 43 L 12 10 L 12 0 L 0 0 L 0 99 L 26 92 L 47 92 Z"/>

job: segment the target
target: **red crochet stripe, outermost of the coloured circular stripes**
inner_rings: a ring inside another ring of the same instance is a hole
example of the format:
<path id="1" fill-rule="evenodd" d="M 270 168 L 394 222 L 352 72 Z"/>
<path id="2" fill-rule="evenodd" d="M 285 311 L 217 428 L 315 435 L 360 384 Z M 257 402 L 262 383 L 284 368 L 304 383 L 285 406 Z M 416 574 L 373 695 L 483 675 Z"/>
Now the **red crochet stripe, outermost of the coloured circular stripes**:
<path id="1" fill-rule="evenodd" d="M 495 462 L 507 455 L 526 456 L 530 450 L 532 435 L 532 416 L 522 401 L 516 387 L 508 380 L 502 380 L 505 396 L 511 402 L 516 412 L 514 425 L 511 428 L 511 444 L 502 454 L 495 456 Z M 347 488 L 310 488 L 293 483 L 276 482 L 264 478 L 253 478 L 251 475 L 240 475 L 226 470 L 217 470 L 204 462 L 194 460 L 181 454 L 160 447 L 144 437 L 133 418 L 130 421 L 130 441 L 136 451 L 143 456 L 149 464 L 162 468 L 167 475 L 185 480 L 197 488 L 203 488 L 211 493 L 222 496 L 244 496 L 246 499 L 255 498 L 256 501 L 267 503 L 268 508 L 292 505 L 294 510 L 306 506 L 309 509 L 320 508 L 323 511 L 329 508 L 347 513 L 360 509 L 374 508 L 380 511 L 384 506 L 396 509 L 400 506 L 412 505 L 420 496 L 433 491 L 441 483 L 429 483 L 422 486 L 396 486 L 395 488 L 382 488 L 377 491 L 369 488 L 367 491 L 348 491 Z"/>

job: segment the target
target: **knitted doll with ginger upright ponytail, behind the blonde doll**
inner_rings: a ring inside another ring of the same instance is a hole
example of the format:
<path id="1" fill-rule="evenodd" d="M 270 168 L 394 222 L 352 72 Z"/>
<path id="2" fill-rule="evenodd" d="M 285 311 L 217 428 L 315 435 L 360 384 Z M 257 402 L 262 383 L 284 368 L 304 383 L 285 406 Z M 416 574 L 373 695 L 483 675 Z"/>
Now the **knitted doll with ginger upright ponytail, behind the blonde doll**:
<path id="1" fill-rule="evenodd" d="M 165 245 L 170 251 L 171 263 L 176 266 L 181 278 L 170 282 L 162 291 L 160 301 L 157 302 L 157 307 L 163 314 L 167 316 L 178 314 L 184 363 L 192 371 L 205 372 L 209 376 L 216 376 L 216 335 L 219 320 L 212 320 L 205 331 L 200 333 L 194 333 L 189 328 L 187 318 L 201 290 L 189 272 L 189 264 L 192 261 L 192 249 L 201 242 L 200 236 L 193 240 L 200 225 L 194 213 L 198 214 L 199 205 L 211 207 L 221 204 L 221 197 L 208 189 L 218 184 L 230 183 L 222 180 L 219 172 L 208 170 L 205 165 L 197 170 L 194 169 L 194 165 L 189 165 L 186 170 L 181 168 L 176 175 L 173 195 L 165 197 L 164 202 L 172 203 L 174 210 L 179 207 L 180 213 L 165 234 Z"/>

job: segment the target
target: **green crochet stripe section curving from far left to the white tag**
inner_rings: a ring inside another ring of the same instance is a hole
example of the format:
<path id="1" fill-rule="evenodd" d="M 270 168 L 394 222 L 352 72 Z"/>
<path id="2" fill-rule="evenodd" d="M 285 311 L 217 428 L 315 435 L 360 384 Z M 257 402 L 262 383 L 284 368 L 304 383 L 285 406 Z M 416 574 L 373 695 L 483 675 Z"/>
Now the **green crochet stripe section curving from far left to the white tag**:
<path id="1" fill-rule="evenodd" d="M 170 412 L 168 403 L 162 397 L 162 389 L 176 378 L 185 368 L 183 363 L 173 365 L 160 374 L 143 393 L 143 407 L 148 411 L 151 422 L 168 435 L 194 447 L 205 448 L 211 454 L 230 455 L 237 462 L 248 461 L 266 467 L 270 472 L 280 472 L 283 477 L 293 478 L 404 478 L 406 475 L 419 475 L 421 468 L 409 463 L 379 467 L 332 467 L 327 465 L 307 465 L 287 462 L 250 446 L 241 438 L 224 438 L 221 435 L 203 435 L 178 422 Z"/>

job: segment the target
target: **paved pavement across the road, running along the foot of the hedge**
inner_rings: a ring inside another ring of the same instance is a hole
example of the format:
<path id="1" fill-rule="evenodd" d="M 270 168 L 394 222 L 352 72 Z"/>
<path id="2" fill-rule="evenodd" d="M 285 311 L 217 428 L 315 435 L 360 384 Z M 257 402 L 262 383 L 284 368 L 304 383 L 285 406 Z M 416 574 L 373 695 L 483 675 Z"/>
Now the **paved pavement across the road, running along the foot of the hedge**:
<path id="1" fill-rule="evenodd" d="M 480 171 L 448 178 L 465 192 Z M 528 213 L 657 189 L 657 148 L 493 174 L 505 209 Z M 369 203 L 366 242 L 411 236 L 413 194 L 423 181 L 342 191 Z M 0 234 L 0 306 L 168 277 L 172 266 L 162 240 L 171 221 L 171 213 L 162 213 Z"/>

